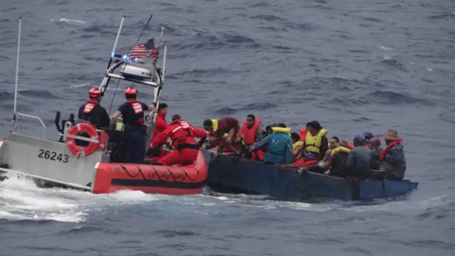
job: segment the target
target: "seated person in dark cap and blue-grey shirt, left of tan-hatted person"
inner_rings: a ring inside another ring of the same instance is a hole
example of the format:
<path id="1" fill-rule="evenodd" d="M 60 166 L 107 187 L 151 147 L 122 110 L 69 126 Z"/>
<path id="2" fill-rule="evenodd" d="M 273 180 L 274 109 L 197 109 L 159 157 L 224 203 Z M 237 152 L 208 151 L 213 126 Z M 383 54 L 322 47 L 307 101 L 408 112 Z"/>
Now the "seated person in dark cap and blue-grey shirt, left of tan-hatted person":
<path id="1" fill-rule="evenodd" d="M 368 178 L 370 176 L 371 150 L 365 147 L 365 137 L 356 135 L 353 139 L 354 148 L 349 151 L 346 169 L 348 176 Z"/>

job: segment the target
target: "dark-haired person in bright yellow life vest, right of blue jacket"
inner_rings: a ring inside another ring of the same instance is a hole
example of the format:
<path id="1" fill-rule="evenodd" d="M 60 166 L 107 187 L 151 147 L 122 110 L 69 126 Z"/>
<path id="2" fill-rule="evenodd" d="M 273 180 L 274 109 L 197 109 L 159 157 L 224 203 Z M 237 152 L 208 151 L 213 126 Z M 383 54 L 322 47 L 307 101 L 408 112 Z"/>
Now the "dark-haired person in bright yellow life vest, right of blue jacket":
<path id="1" fill-rule="evenodd" d="M 316 159 L 319 161 L 323 159 L 328 149 L 327 129 L 323 129 L 318 121 L 308 122 L 306 127 L 304 151 L 316 154 Z"/>

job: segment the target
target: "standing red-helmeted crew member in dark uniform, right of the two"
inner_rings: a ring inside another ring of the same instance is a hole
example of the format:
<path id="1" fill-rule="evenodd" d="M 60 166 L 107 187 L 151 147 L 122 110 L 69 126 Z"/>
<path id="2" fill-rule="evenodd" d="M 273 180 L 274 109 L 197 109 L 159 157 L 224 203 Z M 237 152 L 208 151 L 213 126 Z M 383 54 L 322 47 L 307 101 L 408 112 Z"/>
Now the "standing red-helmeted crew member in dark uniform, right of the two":
<path id="1" fill-rule="evenodd" d="M 124 102 L 117 111 L 112 114 L 111 127 L 116 127 L 117 117 L 122 114 L 123 127 L 121 130 L 125 133 L 125 147 L 123 152 L 123 162 L 130 164 L 144 163 L 145 140 L 147 127 L 144 124 L 144 110 L 154 111 L 154 105 L 146 105 L 139 102 L 137 90 L 134 87 L 128 87 L 125 90 L 127 102 Z"/>

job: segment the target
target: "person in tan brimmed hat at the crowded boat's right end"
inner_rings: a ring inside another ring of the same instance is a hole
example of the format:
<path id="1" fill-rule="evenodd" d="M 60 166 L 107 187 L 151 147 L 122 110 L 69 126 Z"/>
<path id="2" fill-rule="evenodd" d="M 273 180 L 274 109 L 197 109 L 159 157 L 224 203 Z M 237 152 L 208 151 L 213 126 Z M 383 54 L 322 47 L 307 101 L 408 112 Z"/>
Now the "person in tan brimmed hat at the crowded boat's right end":
<path id="1" fill-rule="evenodd" d="M 380 172 L 374 172 L 371 178 L 402 181 L 405 178 L 406 172 L 405 149 L 402 145 L 403 139 L 398 137 L 398 132 L 392 129 L 387 130 L 382 138 L 385 139 L 387 146 L 380 154 L 380 160 L 382 161 L 379 166 Z"/>

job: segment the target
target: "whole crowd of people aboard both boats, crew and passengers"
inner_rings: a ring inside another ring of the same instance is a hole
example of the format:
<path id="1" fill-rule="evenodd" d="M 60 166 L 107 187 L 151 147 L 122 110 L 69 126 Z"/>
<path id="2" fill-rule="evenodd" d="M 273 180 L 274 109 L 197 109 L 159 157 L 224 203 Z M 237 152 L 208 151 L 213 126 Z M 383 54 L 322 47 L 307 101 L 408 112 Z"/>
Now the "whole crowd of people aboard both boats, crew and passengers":
<path id="1" fill-rule="evenodd" d="M 245 157 L 264 164 L 284 168 L 313 171 L 337 177 L 358 177 L 400 181 L 405 176 L 406 159 L 402 138 L 389 129 L 375 137 L 371 132 L 356 135 L 352 144 L 336 136 L 328 136 L 328 129 L 318 121 L 311 121 L 299 133 L 291 132 L 286 124 L 270 124 L 262 128 L 262 120 L 248 114 L 242 123 L 234 117 L 205 119 L 203 129 L 174 114 L 166 122 L 168 106 L 164 103 L 146 105 L 137 101 L 137 90 L 125 90 L 126 102 L 120 105 L 109 119 L 100 106 L 101 92 L 89 91 L 90 100 L 79 110 L 79 122 L 89 122 L 97 128 L 122 132 L 124 163 L 144 163 L 144 156 L 152 163 L 188 165 L 196 161 L 200 148 L 214 149 L 218 154 Z M 149 150 L 146 151 L 144 111 L 157 112 L 155 130 Z M 122 115 L 122 122 L 117 117 Z M 168 139 L 171 142 L 168 142 Z M 196 138 L 200 138 L 196 142 Z M 385 147 L 381 146 L 381 139 Z M 164 144 L 174 149 L 167 152 Z M 372 171 L 373 170 L 373 171 Z"/>

